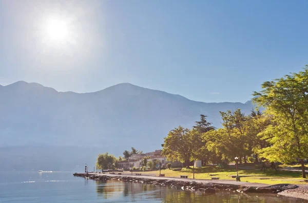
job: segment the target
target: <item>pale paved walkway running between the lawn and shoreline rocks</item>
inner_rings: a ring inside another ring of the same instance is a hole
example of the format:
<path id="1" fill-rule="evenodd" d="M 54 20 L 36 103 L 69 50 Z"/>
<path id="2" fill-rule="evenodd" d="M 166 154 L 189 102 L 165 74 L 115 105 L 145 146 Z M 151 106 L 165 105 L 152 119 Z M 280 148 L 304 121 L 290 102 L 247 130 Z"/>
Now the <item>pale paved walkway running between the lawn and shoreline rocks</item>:
<path id="1" fill-rule="evenodd" d="M 107 175 L 107 176 L 133 176 L 138 178 L 146 178 L 146 179 L 161 179 L 161 180 L 182 180 L 182 181 L 196 181 L 196 182 L 202 182 L 203 184 L 206 184 L 208 182 L 211 183 L 217 183 L 217 184 L 230 184 L 230 185 L 238 185 L 238 186 L 252 186 L 252 187 L 265 187 L 269 186 L 267 184 L 258 184 L 255 182 L 239 182 L 235 180 L 204 180 L 204 179 L 191 179 L 191 178 L 176 178 L 176 177 L 159 177 L 159 176 L 149 176 L 149 175 L 117 175 L 117 174 L 101 174 L 101 173 L 89 173 L 93 175 Z"/>

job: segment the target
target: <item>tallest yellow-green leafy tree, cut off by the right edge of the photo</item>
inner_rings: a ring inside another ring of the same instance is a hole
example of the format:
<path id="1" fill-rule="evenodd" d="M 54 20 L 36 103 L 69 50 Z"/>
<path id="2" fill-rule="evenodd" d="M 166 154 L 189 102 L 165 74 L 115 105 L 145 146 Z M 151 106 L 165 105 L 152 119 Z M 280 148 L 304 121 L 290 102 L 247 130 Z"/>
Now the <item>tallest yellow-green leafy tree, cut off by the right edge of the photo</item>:
<path id="1" fill-rule="evenodd" d="M 254 101 L 273 115 L 276 125 L 266 129 L 271 134 L 270 147 L 262 156 L 283 163 L 300 159 L 305 178 L 303 159 L 308 157 L 308 67 L 299 73 L 265 82 Z M 261 154 L 260 154 L 261 155 Z"/>

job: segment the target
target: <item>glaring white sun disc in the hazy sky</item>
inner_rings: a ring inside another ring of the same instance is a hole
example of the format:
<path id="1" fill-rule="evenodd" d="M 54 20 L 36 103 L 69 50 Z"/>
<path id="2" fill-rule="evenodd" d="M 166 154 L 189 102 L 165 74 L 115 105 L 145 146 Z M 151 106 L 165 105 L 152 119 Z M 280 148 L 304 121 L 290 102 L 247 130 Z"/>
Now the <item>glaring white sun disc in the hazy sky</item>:
<path id="1" fill-rule="evenodd" d="M 62 19 L 50 18 L 46 22 L 46 35 L 52 41 L 63 42 L 69 35 L 68 25 Z"/>

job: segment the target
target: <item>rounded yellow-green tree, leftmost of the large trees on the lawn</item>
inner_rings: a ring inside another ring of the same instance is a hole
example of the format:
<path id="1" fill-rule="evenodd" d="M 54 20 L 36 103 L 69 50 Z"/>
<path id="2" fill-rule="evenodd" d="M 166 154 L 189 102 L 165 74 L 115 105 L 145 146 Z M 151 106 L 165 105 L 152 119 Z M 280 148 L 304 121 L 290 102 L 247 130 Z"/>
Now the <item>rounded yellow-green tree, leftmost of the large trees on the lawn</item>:
<path id="1" fill-rule="evenodd" d="M 201 134 L 196 129 L 189 130 L 179 126 L 164 138 L 162 155 L 168 160 L 180 161 L 188 167 L 189 161 L 195 160 L 200 145 Z"/>

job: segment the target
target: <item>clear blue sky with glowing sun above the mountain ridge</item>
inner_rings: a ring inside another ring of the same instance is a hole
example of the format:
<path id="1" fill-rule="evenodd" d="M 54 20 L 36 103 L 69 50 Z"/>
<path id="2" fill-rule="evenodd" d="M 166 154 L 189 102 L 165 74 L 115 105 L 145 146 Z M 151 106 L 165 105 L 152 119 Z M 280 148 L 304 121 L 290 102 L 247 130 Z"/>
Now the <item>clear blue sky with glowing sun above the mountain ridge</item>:
<path id="1" fill-rule="evenodd" d="M 0 84 L 220 102 L 308 62 L 308 1 L 0 0 Z"/>

